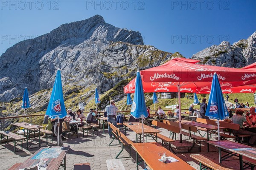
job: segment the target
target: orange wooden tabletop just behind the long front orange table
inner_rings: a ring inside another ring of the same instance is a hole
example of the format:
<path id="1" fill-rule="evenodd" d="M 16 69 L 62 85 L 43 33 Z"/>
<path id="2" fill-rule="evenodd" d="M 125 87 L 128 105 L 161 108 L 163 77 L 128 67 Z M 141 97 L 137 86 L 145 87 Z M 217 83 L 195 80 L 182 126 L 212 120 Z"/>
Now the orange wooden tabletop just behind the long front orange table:
<path id="1" fill-rule="evenodd" d="M 133 122 L 134 125 L 129 125 L 129 123 L 123 123 L 125 126 L 130 128 L 132 131 L 134 131 L 137 134 L 142 134 L 142 123 L 140 122 Z M 144 133 L 160 133 L 160 130 L 157 130 L 153 127 L 143 125 Z"/>

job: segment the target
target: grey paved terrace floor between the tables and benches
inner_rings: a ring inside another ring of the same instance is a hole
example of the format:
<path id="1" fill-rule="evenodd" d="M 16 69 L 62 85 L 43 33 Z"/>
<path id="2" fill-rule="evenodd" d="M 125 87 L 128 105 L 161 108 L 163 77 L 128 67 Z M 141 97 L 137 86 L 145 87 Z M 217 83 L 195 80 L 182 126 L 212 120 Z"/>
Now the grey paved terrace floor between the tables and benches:
<path id="1" fill-rule="evenodd" d="M 159 128 L 161 130 L 161 134 L 164 134 L 166 136 L 169 136 L 169 131 L 163 130 L 162 128 Z M 92 130 L 90 130 L 91 132 Z M 108 130 L 105 130 L 105 134 L 103 134 L 102 130 L 99 130 L 98 135 L 92 136 L 91 133 L 89 133 L 88 136 L 82 137 L 82 132 L 79 132 L 78 138 L 76 136 L 70 136 L 70 139 L 64 140 L 64 146 L 70 146 L 70 150 L 67 153 L 67 170 L 73 170 L 74 164 L 78 163 L 85 163 L 89 162 L 91 170 L 107 170 L 107 159 L 115 159 L 116 155 L 121 150 L 120 145 L 111 145 L 108 146 L 110 143 L 110 138 L 108 135 Z M 204 133 L 204 132 L 203 132 Z M 127 136 L 132 141 L 135 141 L 135 133 L 131 130 L 127 131 Z M 212 136 L 213 137 L 213 136 Z M 179 147 L 186 146 L 186 145 L 192 145 L 192 140 L 189 140 L 188 137 L 183 136 L 183 144 L 180 144 L 178 141 L 175 142 L 175 146 Z M 35 139 L 32 139 L 32 141 Z M 41 147 L 47 147 L 46 145 L 46 139 L 43 139 L 44 142 L 41 144 Z M 56 137 L 54 138 L 55 141 L 53 141 L 53 144 L 56 144 Z M 179 135 L 177 134 L 177 140 L 179 140 Z M 211 138 L 211 140 L 216 140 L 216 138 Z M 154 142 L 152 138 L 148 138 L 148 142 Z M 161 142 L 160 139 L 158 139 L 158 142 Z M 114 143 L 114 142 L 113 142 Z M 112 143 L 112 144 L 113 144 Z M 49 144 L 48 146 L 53 146 L 53 144 Z M 115 140 L 115 144 L 117 144 L 117 140 Z M 17 148 L 20 149 L 21 144 L 18 144 Z M 37 146 L 37 147 L 35 147 Z M 215 162 L 218 162 L 218 152 L 217 149 L 210 145 L 210 152 L 207 152 L 207 144 L 206 142 L 202 142 L 201 144 L 201 154 L 210 157 L 211 159 L 215 160 Z M 10 142 L 9 144 L 2 144 L 0 145 L 0 170 L 8 170 L 9 167 L 11 167 L 13 164 L 18 162 L 24 162 L 26 159 L 28 159 L 33 153 L 35 153 L 39 147 L 37 145 L 32 145 L 31 147 L 35 147 L 29 150 L 26 150 L 26 144 L 23 143 L 23 151 L 18 150 L 17 152 L 13 152 L 14 150 L 14 143 Z M 215 150 L 215 151 L 214 151 Z M 193 153 L 177 153 L 176 155 L 186 161 L 188 164 L 190 164 L 195 169 L 200 169 L 199 163 L 192 159 L 189 155 L 198 153 L 198 147 L 195 147 Z M 121 159 L 122 164 L 125 167 L 125 170 L 136 170 L 136 152 L 134 149 L 131 149 L 131 158 L 129 158 L 129 149 L 128 147 L 125 147 L 123 152 L 119 157 L 128 157 Z M 234 158 L 230 158 L 234 159 Z M 224 161 L 223 164 L 231 169 L 239 170 L 239 160 L 230 160 L 230 161 Z M 143 170 L 144 165 L 140 165 L 139 169 Z M 147 167 L 149 169 L 149 167 Z"/>

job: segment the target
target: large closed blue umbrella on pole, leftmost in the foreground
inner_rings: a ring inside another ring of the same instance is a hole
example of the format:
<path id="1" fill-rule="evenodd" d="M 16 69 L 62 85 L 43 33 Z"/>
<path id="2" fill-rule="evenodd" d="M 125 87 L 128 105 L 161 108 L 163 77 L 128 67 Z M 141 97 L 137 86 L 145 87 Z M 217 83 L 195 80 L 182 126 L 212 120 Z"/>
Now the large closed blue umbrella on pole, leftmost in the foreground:
<path id="1" fill-rule="evenodd" d="M 64 105 L 62 84 L 61 84 L 61 71 L 57 71 L 56 79 L 52 88 L 51 98 L 45 113 L 50 118 L 58 118 L 58 123 L 61 118 L 67 116 L 66 108 Z M 59 146 L 59 126 L 58 126 L 58 146 Z"/>

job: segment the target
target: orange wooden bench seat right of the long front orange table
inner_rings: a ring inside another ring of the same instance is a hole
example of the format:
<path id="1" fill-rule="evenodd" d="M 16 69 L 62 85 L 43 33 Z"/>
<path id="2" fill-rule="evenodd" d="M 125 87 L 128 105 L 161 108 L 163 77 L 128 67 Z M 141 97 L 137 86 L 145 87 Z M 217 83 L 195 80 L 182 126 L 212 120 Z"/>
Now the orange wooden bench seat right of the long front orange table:
<path id="1" fill-rule="evenodd" d="M 190 157 L 201 162 L 203 165 L 212 168 L 213 170 L 232 170 L 227 167 L 223 167 L 218 163 L 215 163 L 214 161 L 212 161 L 212 159 L 207 158 L 201 154 L 191 154 Z"/>

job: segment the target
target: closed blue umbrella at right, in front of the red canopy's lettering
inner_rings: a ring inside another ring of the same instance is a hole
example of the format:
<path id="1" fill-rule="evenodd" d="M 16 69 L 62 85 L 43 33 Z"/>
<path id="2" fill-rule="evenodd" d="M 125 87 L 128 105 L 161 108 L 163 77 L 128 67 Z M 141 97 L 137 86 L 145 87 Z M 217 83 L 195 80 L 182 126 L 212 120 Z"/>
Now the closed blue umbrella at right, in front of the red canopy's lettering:
<path id="1" fill-rule="evenodd" d="M 212 79 L 211 93 L 205 116 L 218 121 L 218 140 L 220 140 L 220 120 L 229 116 L 225 100 L 221 91 L 220 82 L 218 81 L 217 74 L 214 73 Z"/>

